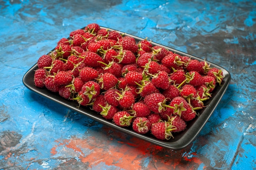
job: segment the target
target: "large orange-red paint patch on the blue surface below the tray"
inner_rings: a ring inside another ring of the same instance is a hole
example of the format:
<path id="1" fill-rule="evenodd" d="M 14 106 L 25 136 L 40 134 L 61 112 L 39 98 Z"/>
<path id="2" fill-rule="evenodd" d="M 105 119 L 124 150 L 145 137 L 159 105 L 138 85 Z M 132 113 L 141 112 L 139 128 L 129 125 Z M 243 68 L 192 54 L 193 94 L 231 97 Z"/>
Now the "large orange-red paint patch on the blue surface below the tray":
<path id="1" fill-rule="evenodd" d="M 120 133 L 115 133 L 115 135 L 117 134 Z M 113 138 L 103 140 L 100 137 L 65 139 L 56 141 L 58 144 L 52 148 L 51 153 L 56 155 L 58 147 L 69 148 L 69 152 L 79 153 L 79 159 L 83 163 L 87 163 L 90 168 L 104 162 L 106 166 L 116 166 L 126 170 L 131 168 L 134 170 L 143 168 L 172 170 L 180 167 L 184 170 L 192 170 L 202 163 L 195 152 L 192 153 L 193 157 L 189 158 L 183 155 L 185 150 L 173 151 L 136 137 L 131 137 L 128 141 L 120 136 L 115 145 L 113 145 L 113 140 Z M 104 143 L 101 144 L 102 142 Z M 88 150 L 90 151 L 88 152 Z M 143 163 L 141 162 L 143 158 L 149 158 L 150 161 Z M 194 162 L 194 166 L 191 166 L 191 161 Z"/>

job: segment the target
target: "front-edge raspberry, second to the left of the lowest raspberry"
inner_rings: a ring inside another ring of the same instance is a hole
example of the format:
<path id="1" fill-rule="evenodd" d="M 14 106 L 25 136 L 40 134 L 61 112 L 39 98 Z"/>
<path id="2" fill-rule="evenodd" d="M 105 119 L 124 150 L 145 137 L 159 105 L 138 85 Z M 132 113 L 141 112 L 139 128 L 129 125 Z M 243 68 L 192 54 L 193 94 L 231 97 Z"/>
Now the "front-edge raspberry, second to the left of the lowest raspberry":
<path id="1" fill-rule="evenodd" d="M 113 121 L 117 126 L 130 126 L 132 116 L 126 111 L 119 111 L 113 116 Z"/>

